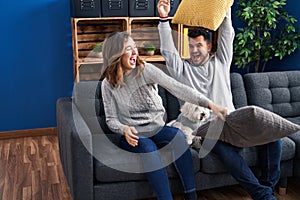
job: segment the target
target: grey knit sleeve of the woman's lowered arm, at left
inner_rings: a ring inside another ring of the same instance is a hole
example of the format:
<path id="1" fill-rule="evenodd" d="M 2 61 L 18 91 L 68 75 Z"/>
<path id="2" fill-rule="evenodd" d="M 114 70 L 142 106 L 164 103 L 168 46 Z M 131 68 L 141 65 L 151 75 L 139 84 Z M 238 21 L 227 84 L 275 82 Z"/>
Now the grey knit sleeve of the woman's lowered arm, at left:
<path id="1" fill-rule="evenodd" d="M 126 125 L 122 124 L 118 119 L 117 106 L 112 94 L 112 86 L 106 80 L 102 81 L 101 91 L 108 128 L 114 133 L 123 134 Z"/>

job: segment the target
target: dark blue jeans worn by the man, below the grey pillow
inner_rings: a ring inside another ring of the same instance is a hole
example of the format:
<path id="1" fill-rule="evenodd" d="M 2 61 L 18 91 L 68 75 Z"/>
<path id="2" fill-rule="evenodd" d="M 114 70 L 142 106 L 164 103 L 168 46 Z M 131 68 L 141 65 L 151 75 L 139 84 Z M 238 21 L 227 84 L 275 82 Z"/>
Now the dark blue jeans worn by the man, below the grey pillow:
<path id="1" fill-rule="evenodd" d="M 250 194 L 254 200 L 276 199 L 273 196 L 274 187 L 280 178 L 282 141 L 258 146 L 258 158 L 262 175 L 258 179 L 240 156 L 241 148 L 218 141 L 212 152 L 217 154 L 230 174 Z"/>

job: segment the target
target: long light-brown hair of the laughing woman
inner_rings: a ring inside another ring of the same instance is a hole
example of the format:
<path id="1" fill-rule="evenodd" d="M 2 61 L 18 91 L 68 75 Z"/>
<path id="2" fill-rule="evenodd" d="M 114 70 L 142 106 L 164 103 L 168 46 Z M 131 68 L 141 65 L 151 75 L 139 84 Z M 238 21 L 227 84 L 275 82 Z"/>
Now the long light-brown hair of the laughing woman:
<path id="1" fill-rule="evenodd" d="M 125 43 L 131 36 L 127 32 L 113 32 L 103 43 L 103 68 L 100 80 L 104 78 L 116 88 L 124 85 L 123 76 L 124 70 L 122 67 L 121 58 L 125 52 Z M 144 62 L 137 56 L 137 68 L 139 75 L 144 69 Z"/>

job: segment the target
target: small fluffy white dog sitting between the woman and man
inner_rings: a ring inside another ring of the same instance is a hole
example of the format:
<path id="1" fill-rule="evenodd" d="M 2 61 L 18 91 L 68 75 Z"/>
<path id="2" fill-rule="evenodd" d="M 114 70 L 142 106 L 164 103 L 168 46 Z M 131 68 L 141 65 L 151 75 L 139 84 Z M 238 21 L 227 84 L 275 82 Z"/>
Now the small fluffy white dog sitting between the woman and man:
<path id="1" fill-rule="evenodd" d="M 193 135 L 203 121 L 210 116 L 208 108 L 197 106 L 192 103 L 185 102 L 180 108 L 181 114 L 176 120 L 172 120 L 167 125 L 179 128 L 185 135 L 187 143 L 196 149 L 201 148 L 201 137 Z"/>

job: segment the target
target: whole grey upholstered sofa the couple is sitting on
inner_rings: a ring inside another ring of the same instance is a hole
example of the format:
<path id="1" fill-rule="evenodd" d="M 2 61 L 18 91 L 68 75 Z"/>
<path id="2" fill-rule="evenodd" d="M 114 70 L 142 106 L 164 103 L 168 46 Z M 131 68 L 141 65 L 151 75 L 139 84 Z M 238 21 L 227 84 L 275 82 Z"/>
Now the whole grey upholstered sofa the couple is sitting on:
<path id="1" fill-rule="evenodd" d="M 74 86 L 73 97 L 57 101 L 59 152 L 72 196 L 76 200 L 154 197 L 144 174 L 119 170 L 140 165 L 140 161 L 118 156 L 119 136 L 106 126 L 100 85 L 100 81 L 79 82 Z M 300 124 L 300 71 L 244 76 L 232 73 L 231 86 L 236 108 L 258 105 Z M 175 119 L 179 114 L 178 100 L 163 88 L 159 88 L 159 94 L 167 121 Z M 288 177 L 300 177 L 299 136 L 297 132 L 282 139 L 281 188 L 287 187 Z M 259 175 L 257 148 L 245 148 L 240 153 Z M 237 184 L 216 155 L 209 153 L 199 159 L 194 149 L 192 154 L 197 190 Z M 174 166 L 170 164 L 167 170 L 173 194 L 181 194 Z"/>

